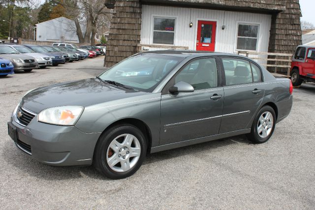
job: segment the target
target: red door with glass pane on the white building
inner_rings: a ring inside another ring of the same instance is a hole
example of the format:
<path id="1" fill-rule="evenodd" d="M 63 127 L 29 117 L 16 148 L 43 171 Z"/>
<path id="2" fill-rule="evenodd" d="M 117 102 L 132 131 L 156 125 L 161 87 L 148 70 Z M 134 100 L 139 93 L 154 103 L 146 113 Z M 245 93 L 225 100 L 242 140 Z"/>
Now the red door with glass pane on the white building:
<path id="1" fill-rule="evenodd" d="M 196 50 L 215 51 L 217 22 L 198 20 Z"/>

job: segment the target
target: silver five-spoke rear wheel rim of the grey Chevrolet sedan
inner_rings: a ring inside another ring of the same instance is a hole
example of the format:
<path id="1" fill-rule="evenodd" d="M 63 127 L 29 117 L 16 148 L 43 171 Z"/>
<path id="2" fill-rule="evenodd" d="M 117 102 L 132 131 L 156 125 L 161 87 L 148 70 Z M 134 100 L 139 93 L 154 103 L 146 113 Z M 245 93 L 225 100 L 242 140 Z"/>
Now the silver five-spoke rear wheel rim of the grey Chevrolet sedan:
<path id="1" fill-rule="evenodd" d="M 266 138 L 272 132 L 272 128 L 274 125 L 274 117 L 272 113 L 269 111 L 263 112 L 257 123 L 257 133 L 259 137 Z"/>

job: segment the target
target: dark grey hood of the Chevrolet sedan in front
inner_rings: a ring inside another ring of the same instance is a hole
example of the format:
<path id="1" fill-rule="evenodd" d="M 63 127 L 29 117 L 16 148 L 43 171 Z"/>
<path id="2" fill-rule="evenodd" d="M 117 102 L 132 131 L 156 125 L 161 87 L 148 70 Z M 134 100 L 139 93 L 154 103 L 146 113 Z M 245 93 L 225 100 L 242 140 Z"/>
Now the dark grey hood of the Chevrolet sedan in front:
<path id="1" fill-rule="evenodd" d="M 32 90 L 21 105 L 35 113 L 56 106 L 89 106 L 148 93 L 115 87 L 98 79 L 84 79 Z"/>

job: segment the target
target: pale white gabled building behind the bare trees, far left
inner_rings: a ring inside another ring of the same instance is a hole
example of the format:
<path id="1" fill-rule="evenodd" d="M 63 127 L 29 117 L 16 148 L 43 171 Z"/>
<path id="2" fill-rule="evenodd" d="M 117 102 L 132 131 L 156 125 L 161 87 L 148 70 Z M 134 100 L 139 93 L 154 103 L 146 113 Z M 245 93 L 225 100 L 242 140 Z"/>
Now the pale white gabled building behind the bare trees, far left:
<path id="1" fill-rule="evenodd" d="M 81 27 L 81 30 L 82 33 L 85 33 L 86 29 L 85 27 Z M 65 17 L 59 17 L 36 24 L 36 40 L 73 43 L 79 42 L 74 21 Z"/>

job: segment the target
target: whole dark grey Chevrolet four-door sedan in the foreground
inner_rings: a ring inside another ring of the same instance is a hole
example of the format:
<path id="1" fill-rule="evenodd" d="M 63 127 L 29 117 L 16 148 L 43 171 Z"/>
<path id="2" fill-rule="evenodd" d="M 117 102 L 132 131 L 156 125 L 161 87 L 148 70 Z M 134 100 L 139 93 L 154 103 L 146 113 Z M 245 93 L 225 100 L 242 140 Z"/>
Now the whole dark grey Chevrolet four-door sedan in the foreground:
<path id="1" fill-rule="evenodd" d="M 247 57 L 145 52 L 96 78 L 27 92 L 8 133 L 42 163 L 94 164 L 117 179 L 134 174 L 148 152 L 241 134 L 263 143 L 291 106 L 291 81 Z"/>

